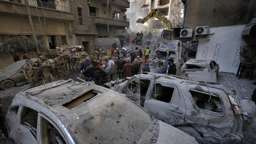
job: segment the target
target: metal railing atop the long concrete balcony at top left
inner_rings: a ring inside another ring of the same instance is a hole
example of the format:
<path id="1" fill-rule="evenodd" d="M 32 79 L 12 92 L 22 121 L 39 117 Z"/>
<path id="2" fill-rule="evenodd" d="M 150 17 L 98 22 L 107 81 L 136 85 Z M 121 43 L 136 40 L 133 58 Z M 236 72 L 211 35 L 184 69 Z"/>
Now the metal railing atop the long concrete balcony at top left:
<path id="1" fill-rule="evenodd" d="M 26 4 L 25 0 L 5 0 L 5 1 L 20 3 L 20 4 Z M 46 2 L 42 2 L 40 0 L 28 0 L 28 4 L 33 5 L 33 6 L 37 6 L 37 7 L 53 9 L 53 10 L 72 12 L 70 7 L 57 5 L 57 4 L 52 4 L 52 3 L 46 3 Z"/>

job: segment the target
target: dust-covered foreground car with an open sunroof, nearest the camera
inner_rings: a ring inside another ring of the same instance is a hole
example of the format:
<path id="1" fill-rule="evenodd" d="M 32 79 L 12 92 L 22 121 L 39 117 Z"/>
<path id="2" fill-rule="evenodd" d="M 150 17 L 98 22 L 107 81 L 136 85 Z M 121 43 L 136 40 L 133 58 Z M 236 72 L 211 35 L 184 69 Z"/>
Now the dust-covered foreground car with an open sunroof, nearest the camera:
<path id="1" fill-rule="evenodd" d="M 196 143 L 117 92 L 71 79 L 20 91 L 6 120 L 15 143 Z"/>

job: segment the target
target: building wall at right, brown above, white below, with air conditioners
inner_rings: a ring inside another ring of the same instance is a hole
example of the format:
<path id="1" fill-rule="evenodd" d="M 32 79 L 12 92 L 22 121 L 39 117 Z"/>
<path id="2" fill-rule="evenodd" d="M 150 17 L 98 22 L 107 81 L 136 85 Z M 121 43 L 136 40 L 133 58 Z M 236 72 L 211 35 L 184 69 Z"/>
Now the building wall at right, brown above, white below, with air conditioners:
<path id="1" fill-rule="evenodd" d="M 256 24 L 252 22 L 256 20 L 255 0 L 182 2 L 184 29 L 191 31 L 191 35 L 180 37 L 182 41 L 198 42 L 196 59 L 212 59 L 219 64 L 220 71 L 236 73 L 240 61 L 244 61 L 240 50 L 246 48 L 256 52 L 252 35 Z"/>

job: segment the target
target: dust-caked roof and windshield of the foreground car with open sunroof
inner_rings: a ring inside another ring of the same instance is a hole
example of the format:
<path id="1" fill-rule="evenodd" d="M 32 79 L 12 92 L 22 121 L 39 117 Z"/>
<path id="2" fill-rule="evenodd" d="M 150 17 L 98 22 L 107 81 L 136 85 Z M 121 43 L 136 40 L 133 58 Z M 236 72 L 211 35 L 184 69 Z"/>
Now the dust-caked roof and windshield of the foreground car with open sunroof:
<path id="1" fill-rule="evenodd" d="M 78 143 L 150 143 L 152 135 L 155 140 L 158 137 L 159 124 L 148 111 L 104 87 L 69 79 L 19 94 L 55 113 Z"/>

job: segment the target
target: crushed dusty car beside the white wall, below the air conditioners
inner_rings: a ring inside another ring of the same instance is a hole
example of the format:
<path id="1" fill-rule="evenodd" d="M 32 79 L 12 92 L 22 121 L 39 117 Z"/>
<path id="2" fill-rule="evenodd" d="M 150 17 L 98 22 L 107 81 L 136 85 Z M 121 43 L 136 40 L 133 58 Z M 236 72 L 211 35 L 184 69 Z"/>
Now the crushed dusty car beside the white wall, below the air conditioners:
<path id="1" fill-rule="evenodd" d="M 181 67 L 181 74 L 199 82 L 217 83 L 219 69 L 213 60 L 189 59 Z"/>

